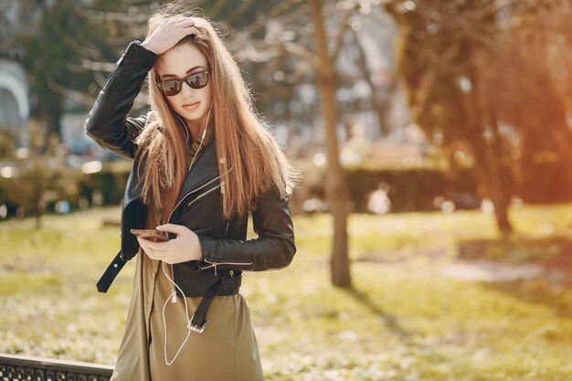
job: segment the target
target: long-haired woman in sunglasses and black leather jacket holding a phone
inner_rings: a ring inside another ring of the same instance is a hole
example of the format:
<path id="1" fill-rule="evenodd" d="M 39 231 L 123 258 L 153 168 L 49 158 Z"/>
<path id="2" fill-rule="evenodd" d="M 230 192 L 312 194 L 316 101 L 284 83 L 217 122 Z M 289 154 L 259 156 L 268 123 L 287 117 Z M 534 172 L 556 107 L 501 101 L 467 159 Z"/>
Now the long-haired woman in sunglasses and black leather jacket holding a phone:
<path id="1" fill-rule="evenodd" d="M 150 111 L 127 117 L 148 78 Z M 234 60 L 204 19 L 160 10 L 130 44 L 90 111 L 86 131 L 134 159 L 122 249 L 107 291 L 136 255 L 132 302 L 112 379 L 263 379 L 243 270 L 281 269 L 295 253 L 293 172 L 257 120 Z M 252 214 L 258 238 L 246 240 Z M 156 228 L 168 241 L 135 238 Z"/>

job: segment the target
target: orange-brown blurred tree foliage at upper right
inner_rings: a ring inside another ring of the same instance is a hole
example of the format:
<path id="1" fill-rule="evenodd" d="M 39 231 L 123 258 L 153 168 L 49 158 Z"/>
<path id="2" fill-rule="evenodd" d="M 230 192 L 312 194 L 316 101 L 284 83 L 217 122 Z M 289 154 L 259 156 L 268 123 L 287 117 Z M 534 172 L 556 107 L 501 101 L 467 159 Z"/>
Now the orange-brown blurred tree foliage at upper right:
<path id="1" fill-rule="evenodd" d="M 511 228 L 506 208 L 516 189 L 527 202 L 569 200 L 572 102 L 569 84 L 561 83 L 572 73 L 563 62 L 568 55 L 555 52 L 572 50 L 567 5 L 385 6 L 399 25 L 397 67 L 414 119 L 433 143 L 469 149 L 499 228 Z"/>

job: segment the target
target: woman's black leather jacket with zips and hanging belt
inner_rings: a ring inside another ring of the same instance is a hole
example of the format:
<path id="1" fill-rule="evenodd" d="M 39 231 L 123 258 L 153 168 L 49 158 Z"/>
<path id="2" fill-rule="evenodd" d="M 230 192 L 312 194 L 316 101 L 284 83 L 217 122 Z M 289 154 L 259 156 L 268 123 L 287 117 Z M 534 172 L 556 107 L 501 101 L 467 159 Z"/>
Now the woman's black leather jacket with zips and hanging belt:
<path id="1" fill-rule="evenodd" d="M 127 117 L 132 102 L 158 56 L 132 42 L 111 73 L 90 111 L 86 132 L 101 147 L 134 159 L 133 139 L 143 129 L 146 115 Z M 215 137 L 216 138 L 216 137 Z M 202 295 L 219 278 L 240 277 L 242 270 L 273 270 L 288 266 L 294 256 L 294 234 L 288 199 L 270 189 L 256 200 L 251 211 L 258 238 L 246 240 L 248 216 L 222 217 L 220 182 L 215 143 L 199 150 L 185 178 L 168 222 L 184 225 L 199 238 L 204 260 L 175 264 L 174 277 L 186 296 Z M 122 206 L 123 260 L 132 259 L 139 245 L 131 228 L 144 228 L 146 206 L 139 187 L 134 160 Z M 140 168 L 142 169 L 142 168 Z M 231 189 L 227 190 L 232 192 Z M 172 235 L 171 238 L 174 238 Z"/>

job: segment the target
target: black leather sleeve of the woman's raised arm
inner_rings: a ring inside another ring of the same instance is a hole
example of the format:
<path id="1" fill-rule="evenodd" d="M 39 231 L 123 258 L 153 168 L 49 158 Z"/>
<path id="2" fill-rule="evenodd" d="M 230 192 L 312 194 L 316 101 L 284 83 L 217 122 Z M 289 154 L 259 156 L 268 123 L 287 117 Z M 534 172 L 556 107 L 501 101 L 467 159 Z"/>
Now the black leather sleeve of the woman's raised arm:
<path id="1" fill-rule="evenodd" d="M 138 41 L 132 42 L 105 82 L 85 124 L 91 139 L 124 158 L 133 158 L 133 139 L 146 121 L 146 116 L 128 118 L 127 113 L 157 57 Z"/>

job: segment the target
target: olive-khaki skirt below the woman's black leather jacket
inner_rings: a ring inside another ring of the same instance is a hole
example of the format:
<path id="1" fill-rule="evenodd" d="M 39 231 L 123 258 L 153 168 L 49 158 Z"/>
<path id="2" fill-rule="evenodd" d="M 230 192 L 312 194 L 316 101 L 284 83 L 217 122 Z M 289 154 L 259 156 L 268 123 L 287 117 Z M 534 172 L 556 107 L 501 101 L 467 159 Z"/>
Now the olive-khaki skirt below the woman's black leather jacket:
<path id="1" fill-rule="evenodd" d="M 147 222 L 148 227 L 156 226 Z M 208 309 L 205 331 L 191 332 L 183 344 L 188 333 L 187 313 L 183 298 L 171 300 L 174 286 L 164 273 L 171 276 L 170 265 L 150 259 L 142 249 L 136 260 L 132 301 L 112 381 L 264 379 L 249 307 L 240 293 L 215 298 Z M 191 317 L 202 297 L 185 300 Z M 165 352 L 172 365 L 166 365 Z"/>

